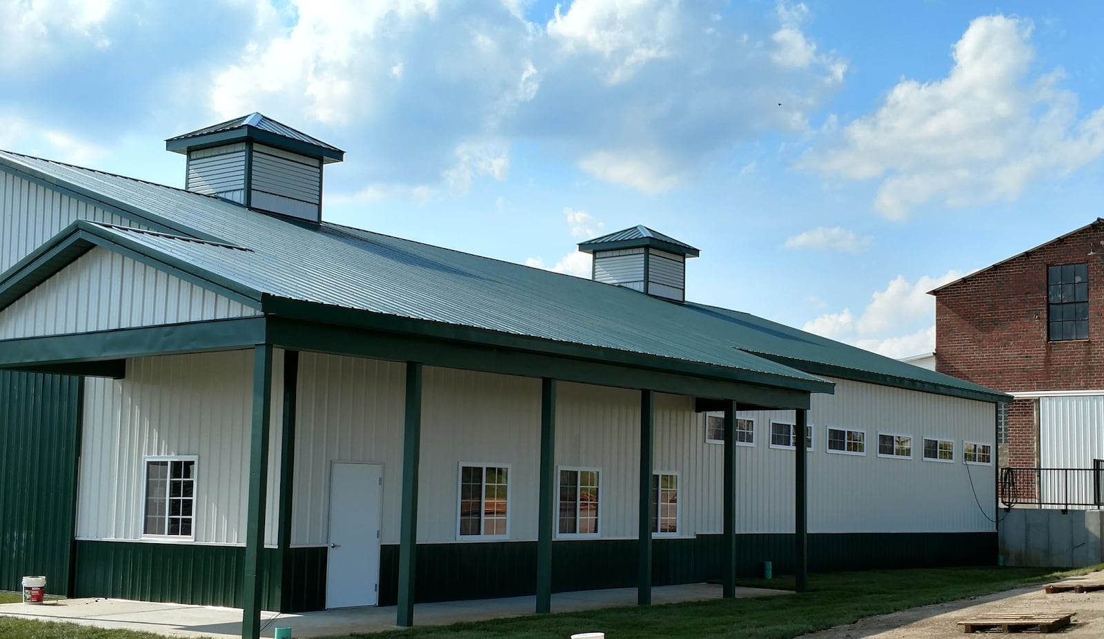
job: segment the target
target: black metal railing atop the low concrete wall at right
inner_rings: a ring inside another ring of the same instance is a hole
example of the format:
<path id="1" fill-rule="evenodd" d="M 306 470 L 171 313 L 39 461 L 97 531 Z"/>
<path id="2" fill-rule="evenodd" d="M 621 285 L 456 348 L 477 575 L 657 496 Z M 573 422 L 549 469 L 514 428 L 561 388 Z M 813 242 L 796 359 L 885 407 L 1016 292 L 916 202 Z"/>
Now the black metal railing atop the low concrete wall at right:
<path id="1" fill-rule="evenodd" d="M 1104 505 L 1104 460 L 1092 468 L 1001 468 L 998 496 L 1005 509 L 1013 505 L 1100 508 Z"/>

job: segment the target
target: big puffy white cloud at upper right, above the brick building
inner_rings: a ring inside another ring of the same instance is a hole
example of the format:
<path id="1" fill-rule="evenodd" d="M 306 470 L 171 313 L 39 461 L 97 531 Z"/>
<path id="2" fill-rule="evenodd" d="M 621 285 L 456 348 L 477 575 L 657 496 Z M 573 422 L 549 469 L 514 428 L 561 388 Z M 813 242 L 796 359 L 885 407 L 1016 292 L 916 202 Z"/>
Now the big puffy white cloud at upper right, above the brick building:
<path id="1" fill-rule="evenodd" d="M 951 207 L 1012 201 L 1032 181 L 1068 174 L 1104 153 L 1104 109 L 1078 116 L 1061 70 L 1031 75 L 1027 20 L 974 20 L 946 77 L 903 79 L 877 111 L 826 126 L 807 168 L 878 180 L 874 209 L 903 220 L 933 200 Z"/>

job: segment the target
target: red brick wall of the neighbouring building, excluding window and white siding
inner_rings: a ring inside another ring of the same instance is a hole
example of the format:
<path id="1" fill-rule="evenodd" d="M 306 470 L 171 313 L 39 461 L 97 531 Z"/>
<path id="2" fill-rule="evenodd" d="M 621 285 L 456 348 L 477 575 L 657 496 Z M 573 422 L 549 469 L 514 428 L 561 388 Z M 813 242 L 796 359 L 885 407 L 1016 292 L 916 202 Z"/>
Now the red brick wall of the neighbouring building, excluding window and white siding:
<path id="1" fill-rule="evenodd" d="M 1089 339 L 1051 342 L 1047 267 L 1078 263 L 1089 265 Z M 935 353 L 941 373 L 1008 393 L 1104 388 L 1104 223 L 941 290 Z M 1039 465 L 1036 406 L 1010 408 L 1009 466 Z"/>

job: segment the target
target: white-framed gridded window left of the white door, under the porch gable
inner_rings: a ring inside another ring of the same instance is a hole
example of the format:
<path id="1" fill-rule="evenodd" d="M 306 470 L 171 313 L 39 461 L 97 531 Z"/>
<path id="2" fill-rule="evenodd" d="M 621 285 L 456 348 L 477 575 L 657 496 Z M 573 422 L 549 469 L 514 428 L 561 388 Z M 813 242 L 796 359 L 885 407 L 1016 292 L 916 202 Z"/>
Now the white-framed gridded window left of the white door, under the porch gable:
<path id="1" fill-rule="evenodd" d="M 195 456 L 147 457 L 142 536 L 195 539 Z"/>

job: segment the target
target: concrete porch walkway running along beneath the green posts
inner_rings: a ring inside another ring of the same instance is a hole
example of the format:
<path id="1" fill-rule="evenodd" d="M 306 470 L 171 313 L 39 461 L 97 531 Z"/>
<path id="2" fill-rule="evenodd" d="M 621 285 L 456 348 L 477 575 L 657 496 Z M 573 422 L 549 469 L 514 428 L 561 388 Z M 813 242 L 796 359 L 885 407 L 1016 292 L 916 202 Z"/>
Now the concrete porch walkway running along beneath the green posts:
<path id="1" fill-rule="evenodd" d="M 736 588 L 737 597 L 765 597 L 785 595 L 786 590 L 764 588 Z M 651 590 L 654 604 L 698 601 L 721 597 L 721 586 L 688 584 L 657 586 Z M 537 599 L 511 597 L 507 599 L 477 599 L 446 601 L 414 606 L 417 626 L 445 626 L 458 621 L 478 621 L 533 614 Z M 636 588 L 584 590 L 552 595 L 552 611 L 569 613 L 617 606 L 636 605 Z M 272 637 L 276 628 L 291 628 L 293 637 L 326 637 L 350 632 L 372 632 L 395 629 L 395 607 L 342 608 L 299 615 L 263 613 L 262 637 Z M 0 606 L 0 615 L 66 621 L 99 628 L 124 628 L 156 632 L 168 637 L 213 637 L 236 639 L 242 633 L 240 608 L 211 608 L 179 604 L 151 604 L 125 599 L 57 599 L 42 605 L 8 604 Z M 601 628 L 580 628 L 580 632 Z"/>

